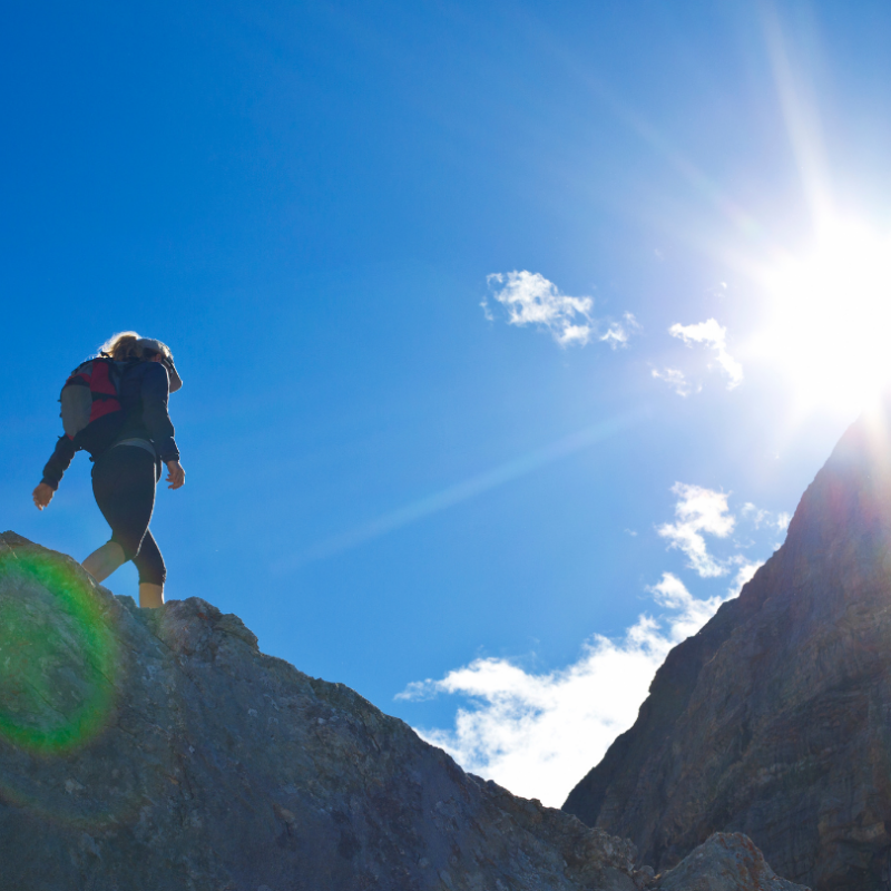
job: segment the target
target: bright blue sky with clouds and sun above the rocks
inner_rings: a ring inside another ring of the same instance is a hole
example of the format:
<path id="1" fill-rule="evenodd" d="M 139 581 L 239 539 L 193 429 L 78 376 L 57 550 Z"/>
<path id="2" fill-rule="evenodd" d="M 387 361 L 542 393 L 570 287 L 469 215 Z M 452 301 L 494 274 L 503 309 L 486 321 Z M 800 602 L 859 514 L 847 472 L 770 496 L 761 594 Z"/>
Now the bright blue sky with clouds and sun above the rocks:
<path id="1" fill-rule="evenodd" d="M 883 380 L 889 31 L 878 2 L 8 3 L 0 525 L 105 540 L 86 457 L 30 491 L 70 369 L 159 337 L 167 596 L 559 804 Z"/>

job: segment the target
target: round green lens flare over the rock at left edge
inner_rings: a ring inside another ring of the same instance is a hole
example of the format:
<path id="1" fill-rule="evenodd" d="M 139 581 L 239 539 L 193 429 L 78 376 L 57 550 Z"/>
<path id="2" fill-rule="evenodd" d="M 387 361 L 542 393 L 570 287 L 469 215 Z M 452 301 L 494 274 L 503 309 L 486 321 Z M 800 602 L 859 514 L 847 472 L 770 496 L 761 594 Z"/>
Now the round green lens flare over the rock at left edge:
<path id="1" fill-rule="evenodd" d="M 82 746 L 115 705 L 118 640 L 82 576 L 59 558 L 0 554 L 0 735 L 58 754 Z"/>

